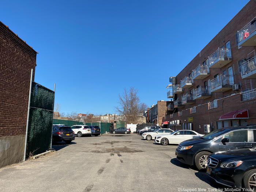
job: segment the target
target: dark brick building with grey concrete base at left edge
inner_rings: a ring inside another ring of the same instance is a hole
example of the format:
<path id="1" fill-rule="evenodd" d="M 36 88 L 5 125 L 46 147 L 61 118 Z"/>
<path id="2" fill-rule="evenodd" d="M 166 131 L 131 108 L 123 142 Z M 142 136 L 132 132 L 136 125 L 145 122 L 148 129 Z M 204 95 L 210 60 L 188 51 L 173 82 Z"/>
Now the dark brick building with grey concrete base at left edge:
<path id="1" fill-rule="evenodd" d="M 0 167 L 22 161 L 31 69 L 36 56 L 0 22 Z M 34 80 L 34 74 L 33 74 Z"/>

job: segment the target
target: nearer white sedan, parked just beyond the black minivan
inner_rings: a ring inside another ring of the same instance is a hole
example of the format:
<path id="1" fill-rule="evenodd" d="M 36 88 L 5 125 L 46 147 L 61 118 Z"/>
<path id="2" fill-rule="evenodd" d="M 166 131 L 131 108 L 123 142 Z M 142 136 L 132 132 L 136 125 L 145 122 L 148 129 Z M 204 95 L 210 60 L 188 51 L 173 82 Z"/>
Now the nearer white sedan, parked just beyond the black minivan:
<path id="1" fill-rule="evenodd" d="M 204 135 L 199 134 L 195 131 L 191 130 L 178 130 L 174 131 L 168 135 L 157 135 L 155 137 L 155 143 L 160 143 L 161 145 L 168 145 L 168 144 L 180 144 L 181 142 L 188 140 L 199 138 Z"/>

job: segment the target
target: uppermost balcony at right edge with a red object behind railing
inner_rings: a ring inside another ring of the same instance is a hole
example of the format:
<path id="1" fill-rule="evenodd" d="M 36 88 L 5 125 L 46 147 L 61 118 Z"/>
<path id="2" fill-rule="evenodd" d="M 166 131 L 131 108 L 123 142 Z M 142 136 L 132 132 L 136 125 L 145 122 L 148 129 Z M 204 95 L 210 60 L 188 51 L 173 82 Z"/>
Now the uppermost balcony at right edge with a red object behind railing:
<path id="1" fill-rule="evenodd" d="M 256 46 L 256 17 L 237 32 L 238 46 Z"/>

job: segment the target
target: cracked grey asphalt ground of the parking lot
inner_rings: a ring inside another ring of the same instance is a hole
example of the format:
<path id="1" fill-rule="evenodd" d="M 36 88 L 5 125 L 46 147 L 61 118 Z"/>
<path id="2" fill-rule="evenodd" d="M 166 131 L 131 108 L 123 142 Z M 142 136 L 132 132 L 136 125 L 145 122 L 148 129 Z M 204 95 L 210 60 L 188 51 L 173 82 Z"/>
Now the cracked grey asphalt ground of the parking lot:
<path id="1" fill-rule="evenodd" d="M 45 157 L 0 169 L 1 191 L 182 191 L 215 189 L 204 172 L 175 158 L 177 145 L 161 146 L 137 134 L 75 138 Z"/>

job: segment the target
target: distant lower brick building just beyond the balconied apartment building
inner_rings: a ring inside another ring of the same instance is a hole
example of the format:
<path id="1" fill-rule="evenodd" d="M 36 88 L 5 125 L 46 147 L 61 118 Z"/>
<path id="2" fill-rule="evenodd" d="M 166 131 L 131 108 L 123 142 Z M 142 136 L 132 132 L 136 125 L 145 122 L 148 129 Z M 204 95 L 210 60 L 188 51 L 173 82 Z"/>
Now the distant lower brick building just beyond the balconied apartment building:
<path id="1" fill-rule="evenodd" d="M 162 119 L 165 116 L 170 115 L 173 112 L 173 102 L 172 101 L 157 101 L 156 105 L 152 105 L 147 112 L 148 123 L 154 123 L 161 125 Z"/>

